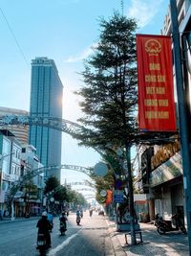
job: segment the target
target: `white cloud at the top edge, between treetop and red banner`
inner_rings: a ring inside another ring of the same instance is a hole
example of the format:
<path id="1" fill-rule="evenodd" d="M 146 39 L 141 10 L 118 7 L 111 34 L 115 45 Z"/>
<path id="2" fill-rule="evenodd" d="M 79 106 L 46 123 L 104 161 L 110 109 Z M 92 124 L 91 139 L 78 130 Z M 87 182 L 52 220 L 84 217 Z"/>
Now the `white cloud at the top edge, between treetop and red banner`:
<path id="1" fill-rule="evenodd" d="M 127 12 L 129 17 L 138 20 L 138 27 L 146 26 L 159 12 L 159 6 L 163 0 L 131 0 L 130 8 Z"/>

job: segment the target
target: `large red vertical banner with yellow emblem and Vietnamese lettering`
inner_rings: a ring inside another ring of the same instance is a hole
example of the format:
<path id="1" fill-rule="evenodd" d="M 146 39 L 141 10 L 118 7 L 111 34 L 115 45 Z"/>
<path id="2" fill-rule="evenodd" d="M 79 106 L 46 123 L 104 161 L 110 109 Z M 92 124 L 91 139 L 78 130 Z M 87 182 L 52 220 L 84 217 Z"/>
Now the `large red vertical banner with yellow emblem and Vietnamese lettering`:
<path id="1" fill-rule="evenodd" d="M 175 131 L 171 37 L 137 35 L 138 128 Z"/>

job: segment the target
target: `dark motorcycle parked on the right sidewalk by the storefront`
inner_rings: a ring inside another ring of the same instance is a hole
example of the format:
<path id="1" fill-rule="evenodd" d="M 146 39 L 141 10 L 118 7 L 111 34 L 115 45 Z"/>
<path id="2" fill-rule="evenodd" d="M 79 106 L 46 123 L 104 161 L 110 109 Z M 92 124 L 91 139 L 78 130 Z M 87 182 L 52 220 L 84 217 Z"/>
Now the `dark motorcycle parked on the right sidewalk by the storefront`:
<path id="1" fill-rule="evenodd" d="M 164 235 L 166 232 L 181 231 L 186 234 L 186 229 L 184 224 L 178 219 L 175 214 L 171 217 L 171 221 L 164 221 L 159 214 L 156 215 L 155 225 L 157 226 L 159 235 Z"/>

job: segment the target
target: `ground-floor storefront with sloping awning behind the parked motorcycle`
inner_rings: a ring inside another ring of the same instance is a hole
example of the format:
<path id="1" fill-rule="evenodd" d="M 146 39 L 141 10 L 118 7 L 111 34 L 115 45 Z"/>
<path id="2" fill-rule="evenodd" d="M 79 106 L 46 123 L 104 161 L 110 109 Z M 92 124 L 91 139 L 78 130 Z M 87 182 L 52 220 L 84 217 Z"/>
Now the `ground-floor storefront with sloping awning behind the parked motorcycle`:
<path id="1" fill-rule="evenodd" d="M 185 216 L 180 152 L 150 174 L 150 188 L 155 201 L 155 214 L 164 220 L 170 220 L 178 212 Z"/>

